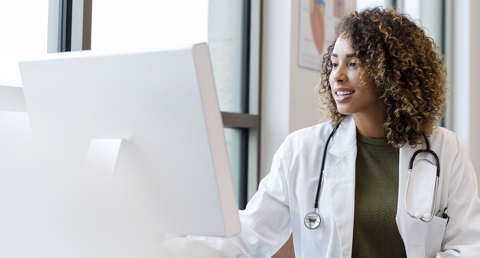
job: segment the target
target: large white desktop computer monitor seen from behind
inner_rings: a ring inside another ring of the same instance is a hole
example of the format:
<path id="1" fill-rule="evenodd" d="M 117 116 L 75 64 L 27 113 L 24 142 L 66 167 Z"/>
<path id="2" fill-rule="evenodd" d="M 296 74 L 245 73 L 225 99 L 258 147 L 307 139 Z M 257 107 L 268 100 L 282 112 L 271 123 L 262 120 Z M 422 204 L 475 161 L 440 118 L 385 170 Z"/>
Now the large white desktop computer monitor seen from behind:
<path id="1" fill-rule="evenodd" d="M 49 237 L 240 233 L 207 44 L 55 53 L 19 67 L 32 164 L 48 189 L 38 201 L 62 227 Z"/>

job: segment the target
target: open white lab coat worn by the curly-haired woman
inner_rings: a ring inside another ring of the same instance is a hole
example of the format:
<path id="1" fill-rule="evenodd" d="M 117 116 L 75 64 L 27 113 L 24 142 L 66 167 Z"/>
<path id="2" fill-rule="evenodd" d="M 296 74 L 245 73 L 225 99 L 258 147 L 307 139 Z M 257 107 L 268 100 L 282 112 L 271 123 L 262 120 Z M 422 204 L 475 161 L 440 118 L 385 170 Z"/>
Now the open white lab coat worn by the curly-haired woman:
<path id="1" fill-rule="evenodd" d="M 351 257 L 357 156 L 356 126 L 351 116 L 342 121 L 329 144 L 319 197 L 322 225 L 315 230 L 304 225 L 305 215 L 313 210 L 322 152 L 331 131 L 331 122 L 325 122 L 287 136 L 273 158 L 270 173 L 260 182 L 246 209 L 239 211 L 239 235 L 189 236 L 172 239 L 162 246 L 174 257 L 271 257 L 293 233 L 297 258 Z M 407 256 L 480 257 L 480 199 L 466 149 L 455 133 L 441 127 L 433 130 L 429 141 L 440 161 L 435 211 L 448 206 L 450 221 L 445 227 L 446 219 L 434 216 L 424 223 L 406 213 L 408 164 L 413 153 L 421 148 L 418 145 L 412 149 L 406 144 L 400 148 L 396 223 Z M 422 155 L 418 158 L 428 158 L 435 164 L 432 155 Z M 426 196 L 413 198 L 413 202 L 432 198 L 430 189 L 409 188 L 409 196 L 410 191 Z M 430 205 L 427 201 L 427 210 Z"/>

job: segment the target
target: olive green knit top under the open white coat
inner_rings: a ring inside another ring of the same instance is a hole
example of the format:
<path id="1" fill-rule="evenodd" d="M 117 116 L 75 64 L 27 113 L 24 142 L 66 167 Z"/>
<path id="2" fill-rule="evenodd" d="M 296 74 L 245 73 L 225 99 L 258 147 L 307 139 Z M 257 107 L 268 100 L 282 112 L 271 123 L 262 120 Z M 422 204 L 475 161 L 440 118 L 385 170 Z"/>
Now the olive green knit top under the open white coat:
<path id="1" fill-rule="evenodd" d="M 399 150 L 357 132 L 352 257 L 407 257 L 395 221 Z"/>

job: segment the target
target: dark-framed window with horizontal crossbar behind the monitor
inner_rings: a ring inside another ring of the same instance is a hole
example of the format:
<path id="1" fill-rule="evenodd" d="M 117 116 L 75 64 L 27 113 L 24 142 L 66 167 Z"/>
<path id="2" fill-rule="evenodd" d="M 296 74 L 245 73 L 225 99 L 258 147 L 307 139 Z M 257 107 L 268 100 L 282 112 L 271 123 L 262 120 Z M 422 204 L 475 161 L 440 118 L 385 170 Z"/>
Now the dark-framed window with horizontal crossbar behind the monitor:
<path id="1" fill-rule="evenodd" d="M 101 50 L 208 42 L 239 209 L 258 186 L 261 1 L 50 1 L 49 49 Z M 60 12 L 61 10 L 61 12 Z M 70 38 L 69 38 L 70 37 Z M 63 41 L 66 42 L 64 47 Z M 71 48 L 69 48 L 71 42 Z"/>

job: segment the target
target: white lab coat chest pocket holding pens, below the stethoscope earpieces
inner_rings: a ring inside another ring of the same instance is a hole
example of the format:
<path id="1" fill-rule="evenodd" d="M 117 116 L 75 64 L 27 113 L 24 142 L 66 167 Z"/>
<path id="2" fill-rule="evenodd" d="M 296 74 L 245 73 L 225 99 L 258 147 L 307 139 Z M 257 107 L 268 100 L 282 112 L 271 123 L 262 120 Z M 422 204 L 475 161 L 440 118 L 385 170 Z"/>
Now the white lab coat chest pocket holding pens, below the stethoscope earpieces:
<path id="1" fill-rule="evenodd" d="M 428 223 L 427 234 L 425 235 L 425 257 L 435 257 L 437 252 L 442 251 L 446 224 L 447 219 L 437 216 L 433 216 Z"/>

